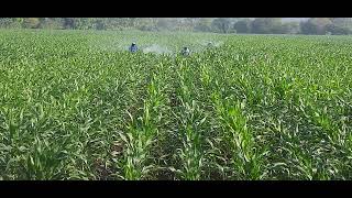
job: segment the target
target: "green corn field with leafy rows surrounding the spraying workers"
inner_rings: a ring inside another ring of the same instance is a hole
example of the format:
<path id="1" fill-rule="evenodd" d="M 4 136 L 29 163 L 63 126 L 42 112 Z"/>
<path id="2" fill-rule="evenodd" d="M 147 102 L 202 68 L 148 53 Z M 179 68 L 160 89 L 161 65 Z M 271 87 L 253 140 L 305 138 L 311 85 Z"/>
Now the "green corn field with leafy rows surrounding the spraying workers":
<path id="1" fill-rule="evenodd" d="M 0 179 L 352 179 L 351 69 L 350 36 L 2 30 Z"/>

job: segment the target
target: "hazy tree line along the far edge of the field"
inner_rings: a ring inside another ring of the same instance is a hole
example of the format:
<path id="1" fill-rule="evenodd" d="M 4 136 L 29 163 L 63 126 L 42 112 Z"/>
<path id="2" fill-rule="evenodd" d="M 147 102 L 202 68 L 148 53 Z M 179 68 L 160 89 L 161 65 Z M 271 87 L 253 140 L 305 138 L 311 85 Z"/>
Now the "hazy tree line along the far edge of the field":
<path id="1" fill-rule="evenodd" d="M 195 31 L 249 34 L 352 34 L 352 18 L 0 18 L 2 29 Z"/>

